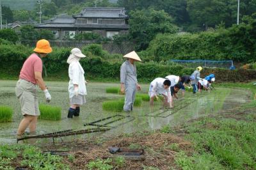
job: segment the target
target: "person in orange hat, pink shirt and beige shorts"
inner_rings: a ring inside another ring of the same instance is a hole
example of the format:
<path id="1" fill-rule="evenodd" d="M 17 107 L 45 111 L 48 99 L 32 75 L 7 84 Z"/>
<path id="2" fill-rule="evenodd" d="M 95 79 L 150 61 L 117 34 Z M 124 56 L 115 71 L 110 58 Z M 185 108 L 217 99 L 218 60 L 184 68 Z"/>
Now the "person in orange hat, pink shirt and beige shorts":
<path id="1" fill-rule="evenodd" d="M 21 112 L 24 116 L 20 121 L 17 137 L 21 137 L 26 128 L 29 128 L 29 133 L 33 134 L 36 131 L 37 118 L 40 115 L 38 107 L 38 98 L 36 95 L 36 85 L 44 91 L 47 102 L 51 101 L 51 95 L 48 92 L 44 80 L 42 78 L 43 63 L 42 58 L 52 52 L 50 43 L 47 40 L 39 40 L 36 43 L 34 53 L 26 59 L 22 66 L 17 82 L 15 93 L 19 98 Z M 44 74 L 44 73 L 43 73 Z"/>

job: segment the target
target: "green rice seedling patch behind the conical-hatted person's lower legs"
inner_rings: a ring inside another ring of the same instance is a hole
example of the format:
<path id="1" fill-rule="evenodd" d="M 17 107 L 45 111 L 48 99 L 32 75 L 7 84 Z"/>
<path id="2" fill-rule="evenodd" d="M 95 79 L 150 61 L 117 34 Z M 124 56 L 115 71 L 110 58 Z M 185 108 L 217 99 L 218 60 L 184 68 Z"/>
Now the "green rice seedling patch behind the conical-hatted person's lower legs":
<path id="1" fill-rule="evenodd" d="M 136 97 L 134 101 L 134 107 L 140 107 L 142 104 L 142 98 Z M 102 109 L 104 111 L 122 112 L 124 109 L 124 98 L 120 100 L 109 100 L 103 102 Z"/>

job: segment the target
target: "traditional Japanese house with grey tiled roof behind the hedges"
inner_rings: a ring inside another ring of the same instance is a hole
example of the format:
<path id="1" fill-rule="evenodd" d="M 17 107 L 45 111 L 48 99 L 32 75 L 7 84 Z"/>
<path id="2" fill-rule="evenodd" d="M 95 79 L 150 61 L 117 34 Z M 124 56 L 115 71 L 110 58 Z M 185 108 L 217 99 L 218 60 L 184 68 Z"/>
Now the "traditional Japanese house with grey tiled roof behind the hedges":
<path id="1" fill-rule="evenodd" d="M 77 15 L 58 15 L 35 27 L 52 30 L 55 37 L 73 38 L 78 33 L 98 33 L 111 38 L 127 33 L 129 26 L 125 8 L 84 8 Z"/>

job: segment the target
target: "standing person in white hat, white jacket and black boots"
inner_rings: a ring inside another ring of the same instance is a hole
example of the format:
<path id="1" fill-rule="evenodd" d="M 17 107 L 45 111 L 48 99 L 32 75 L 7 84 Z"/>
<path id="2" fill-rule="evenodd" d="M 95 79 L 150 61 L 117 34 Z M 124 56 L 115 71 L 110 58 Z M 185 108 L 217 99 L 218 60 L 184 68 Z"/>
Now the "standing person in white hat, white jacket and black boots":
<path id="1" fill-rule="evenodd" d="M 79 60 L 85 58 L 80 49 L 74 48 L 68 57 L 67 63 L 69 64 L 68 76 L 70 78 L 68 84 L 68 93 L 70 98 L 70 108 L 68 109 L 68 118 L 79 116 L 80 105 L 83 105 L 86 92 L 86 81 L 84 80 L 84 70 L 80 65 Z"/>

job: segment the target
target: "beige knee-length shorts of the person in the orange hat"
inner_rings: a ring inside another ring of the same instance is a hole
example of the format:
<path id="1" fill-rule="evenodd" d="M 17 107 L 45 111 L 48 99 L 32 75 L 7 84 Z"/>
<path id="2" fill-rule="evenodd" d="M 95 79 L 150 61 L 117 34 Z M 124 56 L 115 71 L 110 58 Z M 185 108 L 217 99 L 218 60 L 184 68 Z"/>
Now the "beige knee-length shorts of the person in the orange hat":
<path id="1" fill-rule="evenodd" d="M 19 79 L 15 93 L 19 98 L 22 115 L 40 116 L 38 99 L 36 96 L 36 84 Z"/>

